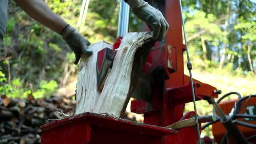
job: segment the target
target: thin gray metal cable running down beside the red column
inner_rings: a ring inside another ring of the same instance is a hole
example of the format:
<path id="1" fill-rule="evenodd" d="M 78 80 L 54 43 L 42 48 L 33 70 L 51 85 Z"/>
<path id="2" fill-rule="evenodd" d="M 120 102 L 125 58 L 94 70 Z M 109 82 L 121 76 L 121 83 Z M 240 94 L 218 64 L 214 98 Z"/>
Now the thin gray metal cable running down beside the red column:
<path id="1" fill-rule="evenodd" d="M 185 30 L 185 24 L 184 24 L 184 19 L 183 19 L 181 0 L 179 0 L 179 4 L 180 4 L 180 8 L 181 8 L 181 20 L 182 20 L 184 40 L 185 40 L 186 51 L 187 51 L 187 69 L 189 70 L 190 84 L 191 84 L 191 89 L 192 89 L 193 104 L 194 104 L 194 110 L 195 110 L 195 120 L 196 120 L 196 123 L 197 123 L 197 135 L 198 135 L 199 144 L 202 144 L 201 137 L 200 137 L 198 117 L 197 117 L 197 107 L 196 107 L 196 104 L 195 104 L 195 91 L 194 91 L 193 78 L 192 78 L 192 72 L 191 72 L 192 64 L 191 64 L 190 59 L 189 59 L 189 49 L 188 49 L 188 46 L 187 46 L 187 36 L 186 36 L 186 32 L 185 32 L 186 30 Z"/>

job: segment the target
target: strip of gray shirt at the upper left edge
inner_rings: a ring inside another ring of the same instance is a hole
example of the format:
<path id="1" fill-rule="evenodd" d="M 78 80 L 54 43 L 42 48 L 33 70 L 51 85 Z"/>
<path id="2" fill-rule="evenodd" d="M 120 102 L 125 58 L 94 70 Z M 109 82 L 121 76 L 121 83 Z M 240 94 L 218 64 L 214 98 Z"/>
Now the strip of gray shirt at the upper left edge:
<path id="1" fill-rule="evenodd" d="M 0 0 L 0 44 L 6 32 L 8 0 Z"/>

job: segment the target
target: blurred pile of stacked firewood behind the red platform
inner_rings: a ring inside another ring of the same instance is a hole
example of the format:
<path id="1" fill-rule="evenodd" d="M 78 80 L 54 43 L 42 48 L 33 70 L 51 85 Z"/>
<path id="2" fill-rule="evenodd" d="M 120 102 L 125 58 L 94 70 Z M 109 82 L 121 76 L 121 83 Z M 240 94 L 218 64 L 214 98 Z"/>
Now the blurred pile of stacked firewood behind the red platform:
<path id="1" fill-rule="evenodd" d="M 40 144 L 40 126 L 73 115 L 75 100 L 50 98 L 0 98 L 0 144 Z M 61 115 L 62 114 L 62 115 Z"/>

